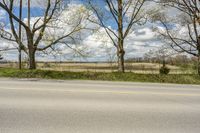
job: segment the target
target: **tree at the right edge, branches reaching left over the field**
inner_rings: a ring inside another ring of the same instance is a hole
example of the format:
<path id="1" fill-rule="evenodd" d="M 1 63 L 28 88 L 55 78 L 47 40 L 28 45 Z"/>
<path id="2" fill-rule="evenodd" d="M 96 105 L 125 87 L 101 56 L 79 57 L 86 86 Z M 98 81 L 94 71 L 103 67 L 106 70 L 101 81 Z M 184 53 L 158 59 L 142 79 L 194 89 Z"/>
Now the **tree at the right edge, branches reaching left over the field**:
<path id="1" fill-rule="evenodd" d="M 164 7 L 174 9 L 176 18 L 171 19 L 166 13 L 154 15 L 163 30 L 159 30 L 178 52 L 186 52 L 198 58 L 198 74 L 200 75 L 200 1 L 199 0 L 160 0 L 156 1 Z"/>

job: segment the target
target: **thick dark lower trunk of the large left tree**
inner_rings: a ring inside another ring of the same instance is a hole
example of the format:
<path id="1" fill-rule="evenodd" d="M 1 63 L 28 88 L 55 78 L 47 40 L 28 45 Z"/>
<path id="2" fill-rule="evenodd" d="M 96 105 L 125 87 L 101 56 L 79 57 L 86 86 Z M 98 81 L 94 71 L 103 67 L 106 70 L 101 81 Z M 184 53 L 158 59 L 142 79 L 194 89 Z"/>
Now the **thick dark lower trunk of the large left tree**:
<path id="1" fill-rule="evenodd" d="M 29 48 L 29 69 L 36 69 L 35 49 Z"/>

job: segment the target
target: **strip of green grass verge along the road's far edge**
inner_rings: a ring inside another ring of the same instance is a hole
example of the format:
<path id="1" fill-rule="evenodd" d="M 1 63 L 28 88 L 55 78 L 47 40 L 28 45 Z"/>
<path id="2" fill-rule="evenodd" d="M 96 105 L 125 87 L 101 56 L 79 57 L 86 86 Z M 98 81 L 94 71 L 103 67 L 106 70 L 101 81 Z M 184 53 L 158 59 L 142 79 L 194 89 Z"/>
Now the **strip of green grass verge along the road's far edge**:
<path id="1" fill-rule="evenodd" d="M 192 74 L 135 74 L 135 73 L 101 73 L 101 72 L 67 72 L 48 70 L 18 70 L 0 68 L 0 77 L 44 78 L 62 80 L 106 80 L 153 83 L 200 84 L 200 77 Z"/>

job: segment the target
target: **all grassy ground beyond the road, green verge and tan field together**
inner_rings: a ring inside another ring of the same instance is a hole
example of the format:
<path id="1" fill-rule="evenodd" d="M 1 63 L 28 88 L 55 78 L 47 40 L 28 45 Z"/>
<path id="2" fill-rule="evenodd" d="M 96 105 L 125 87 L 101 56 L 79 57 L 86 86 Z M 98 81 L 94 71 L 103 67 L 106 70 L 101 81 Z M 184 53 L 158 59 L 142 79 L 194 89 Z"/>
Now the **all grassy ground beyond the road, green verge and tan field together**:
<path id="1" fill-rule="evenodd" d="M 115 63 L 39 62 L 37 70 L 18 70 L 17 63 L 12 62 L 0 65 L 0 77 L 200 84 L 200 77 L 190 67 L 168 65 L 169 75 L 160 75 L 160 67 L 154 63 L 126 63 L 126 73 L 118 73 Z"/>

